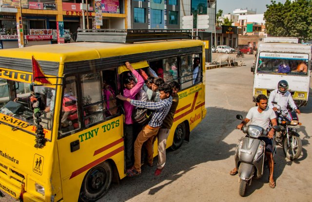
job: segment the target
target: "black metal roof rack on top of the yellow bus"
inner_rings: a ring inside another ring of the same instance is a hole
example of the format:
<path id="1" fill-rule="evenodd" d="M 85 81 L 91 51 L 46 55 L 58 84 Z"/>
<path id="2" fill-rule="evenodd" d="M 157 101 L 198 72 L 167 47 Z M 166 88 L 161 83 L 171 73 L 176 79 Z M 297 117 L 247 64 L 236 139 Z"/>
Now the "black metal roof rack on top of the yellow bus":
<path id="1" fill-rule="evenodd" d="M 84 29 L 76 41 L 134 43 L 153 40 L 192 39 L 188 29 Z"/>

